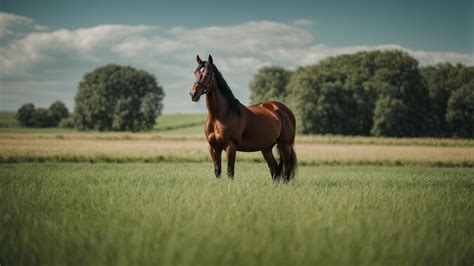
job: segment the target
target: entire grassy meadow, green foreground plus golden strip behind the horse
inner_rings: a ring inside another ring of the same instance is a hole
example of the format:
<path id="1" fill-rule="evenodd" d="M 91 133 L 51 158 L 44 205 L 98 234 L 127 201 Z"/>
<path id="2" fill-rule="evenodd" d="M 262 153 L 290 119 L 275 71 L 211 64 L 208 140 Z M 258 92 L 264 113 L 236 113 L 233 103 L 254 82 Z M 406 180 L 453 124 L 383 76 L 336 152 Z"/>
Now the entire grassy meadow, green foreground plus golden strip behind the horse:
<path id="1" fill-rule="evenodd" d="M 474 261 L 473 140 L 298 136 L 294 181 L 272 183 L 258 153 L 239 153 L 229 181 L 213 177 L 204 120 L 0 128 L 0 264 Z"/>

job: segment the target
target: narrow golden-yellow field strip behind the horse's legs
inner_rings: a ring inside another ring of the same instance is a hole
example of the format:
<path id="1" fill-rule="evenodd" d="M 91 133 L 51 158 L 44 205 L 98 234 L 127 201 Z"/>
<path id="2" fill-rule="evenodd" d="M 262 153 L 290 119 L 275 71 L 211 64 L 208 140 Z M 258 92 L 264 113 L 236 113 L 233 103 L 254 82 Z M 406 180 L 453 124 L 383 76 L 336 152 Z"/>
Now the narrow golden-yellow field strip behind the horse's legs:
<path id="1" fill-rule="evenodd" d="M 474 147 L 299 142 L 305 165 L 474 166 Z M 0 162 L 203 162 L 203 135 L 186 139 L 159 133 L 0 134 Z M 260 153 L 238 153 L 239 161 L 262 161 Z"/>

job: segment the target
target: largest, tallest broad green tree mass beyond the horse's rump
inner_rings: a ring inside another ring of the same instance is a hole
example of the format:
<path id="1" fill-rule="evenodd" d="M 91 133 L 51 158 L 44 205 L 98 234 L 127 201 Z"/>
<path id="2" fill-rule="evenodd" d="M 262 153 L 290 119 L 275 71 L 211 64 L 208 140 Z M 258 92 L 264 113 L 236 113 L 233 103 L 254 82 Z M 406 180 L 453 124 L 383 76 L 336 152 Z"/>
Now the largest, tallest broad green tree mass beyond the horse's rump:
<path id="1" fill-rule="evenodd" d="M 377 129 L 383 123 L 374 128 L 374 120 L 396 119 L 389 124 L 404 135 L 423 136 L 430 132 L 430 101 L 422 80 L 416 59 L 402 51 L 341 55 L 298 69 L 287 86 L 288 102 L 302 133 L 392 135 L 390 127 Z M 374 117 L 379 100 L 379 108 L 404 106 L 405 113 Z"/>

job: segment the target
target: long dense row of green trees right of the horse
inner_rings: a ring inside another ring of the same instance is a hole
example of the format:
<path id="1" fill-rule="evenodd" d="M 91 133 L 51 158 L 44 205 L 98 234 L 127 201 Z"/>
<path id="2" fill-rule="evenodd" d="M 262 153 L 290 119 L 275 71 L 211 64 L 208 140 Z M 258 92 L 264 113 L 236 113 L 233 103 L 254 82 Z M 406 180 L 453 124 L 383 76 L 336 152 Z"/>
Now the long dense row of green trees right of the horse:
<path id="1" fill-rule="evenodd" d="M 340 55 L 295 71 L 269 66 L 250 100 L 289 104 L 303 134 L 474 137 L 474 67 L 420 67 L 399 50 Z"/>

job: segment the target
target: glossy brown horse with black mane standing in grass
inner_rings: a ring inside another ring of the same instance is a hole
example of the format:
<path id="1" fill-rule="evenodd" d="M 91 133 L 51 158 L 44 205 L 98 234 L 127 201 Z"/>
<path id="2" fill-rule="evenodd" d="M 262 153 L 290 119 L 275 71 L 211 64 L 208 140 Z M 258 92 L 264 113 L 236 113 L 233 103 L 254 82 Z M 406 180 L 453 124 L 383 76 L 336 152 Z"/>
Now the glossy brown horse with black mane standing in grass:
<path id="1" fill-rule="evenodd" d="M 236 151 L 261 151 L 270 168 L 273 181 L 284 182 L 294 177 L 296 153 L 294 150 L 296 120 L 291 110 L 279 102 L 264 102 L 244 106 L 237 100 L 214 65 L 196 57 L 196 81 L 189 93 L 197 102 L 206 94 L 208 116 L 204 133 L 209 142 L 209 152 L 214 161 L 216 177 L 221 175 L 221 153 L 227 153 L 227 176 L 234 178 Z M 277 145 L 279 163 L 272 148 Z"/>

